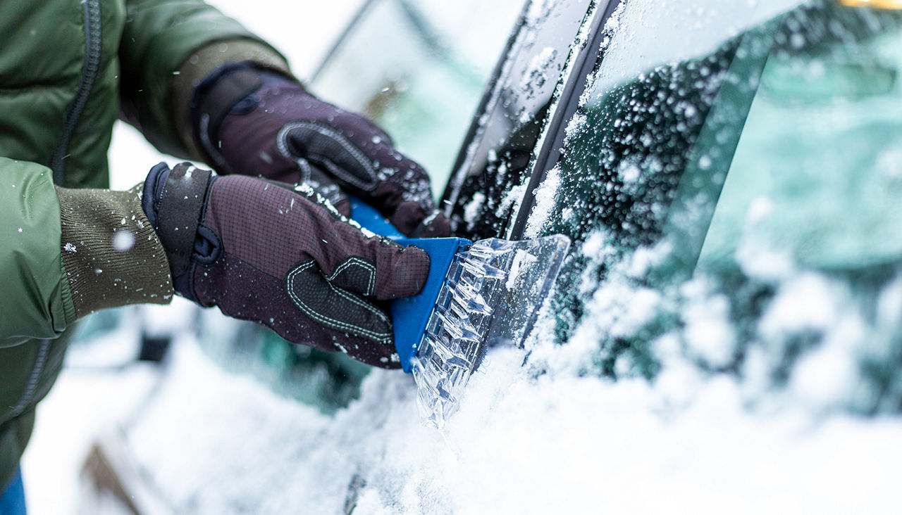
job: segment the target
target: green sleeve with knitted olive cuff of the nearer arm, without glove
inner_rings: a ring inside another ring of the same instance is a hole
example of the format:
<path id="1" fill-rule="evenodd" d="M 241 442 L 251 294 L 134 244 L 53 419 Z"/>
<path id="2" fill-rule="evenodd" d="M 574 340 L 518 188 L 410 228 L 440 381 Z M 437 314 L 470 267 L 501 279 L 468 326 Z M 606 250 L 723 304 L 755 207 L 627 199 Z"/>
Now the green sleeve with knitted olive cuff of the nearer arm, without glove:
<path id="1" fill-rule="evenodd" d="M 7 158 L 0 176 L 0 347 L 56 338 L 106 307 L 170 301 L 140 192 L 58 188 L 49 168 Z"/>

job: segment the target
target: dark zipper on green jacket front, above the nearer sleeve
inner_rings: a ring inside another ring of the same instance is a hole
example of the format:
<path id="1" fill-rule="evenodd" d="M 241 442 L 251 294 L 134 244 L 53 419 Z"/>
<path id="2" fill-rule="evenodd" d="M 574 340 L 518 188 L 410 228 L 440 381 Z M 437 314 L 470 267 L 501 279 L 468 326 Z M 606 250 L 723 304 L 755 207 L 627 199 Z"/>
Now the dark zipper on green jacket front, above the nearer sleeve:
<path id="1" fill-rule="evenodd" d="M 53 182 L 56 185 L 62 185 L 63 167 L 65 167 L 66 158 L 69 157 L 69 140 L 72 138 L 72 133 L 75 132 L 81 113 L 85 110 L 87 97 L 91 95 L 91 89 L 94 87 L 100 71 L 100 51 L 103 42 L 100 27 L 100 0 L 82 0 L 81 5 L 83 5 L 85 16 L 85 65 L 81 69 L 81 84 L 78 85 L 78 94 L 69 105 L 69 113 L 66 113 L 66 128 L 51 158 Z"/>

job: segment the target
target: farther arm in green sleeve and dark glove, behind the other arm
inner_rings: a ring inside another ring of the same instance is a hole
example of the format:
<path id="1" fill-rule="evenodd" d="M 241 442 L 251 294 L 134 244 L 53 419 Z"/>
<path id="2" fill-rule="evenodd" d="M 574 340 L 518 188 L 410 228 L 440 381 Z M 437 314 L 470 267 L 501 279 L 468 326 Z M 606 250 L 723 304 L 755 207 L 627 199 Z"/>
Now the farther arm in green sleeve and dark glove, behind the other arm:
<path id="1" fill-rule="evenodd" d="M 127 6 L 119 52 L 122 115 L 157 149 L 204 161 L 221 174 L 310 185 L 345 214 L 344 193 L 356 194 L 405 234 L 450 232 L 422 167 L 394 149 L 372 122 L 309 95 L 285 59 L 241 24 L 199 0 L 133 0 Z M 238 120 L 229 116 L 248 95 L 287 101 L 280 106 L 283 116 L 267 116 L 273 113 L 263 109 Z M 289 135 L 291 149 L 325 154 L 276 152 L 277 134 L 291 122 L 325 127 L 320 137 L 311 138 L 303 128 Z M 235 141 L 229 140 L 230 131 L 237 134 Z M 227 163 L 230 158 L 214 146 L 227 155 L 250 152 L 259 158 Z"/>

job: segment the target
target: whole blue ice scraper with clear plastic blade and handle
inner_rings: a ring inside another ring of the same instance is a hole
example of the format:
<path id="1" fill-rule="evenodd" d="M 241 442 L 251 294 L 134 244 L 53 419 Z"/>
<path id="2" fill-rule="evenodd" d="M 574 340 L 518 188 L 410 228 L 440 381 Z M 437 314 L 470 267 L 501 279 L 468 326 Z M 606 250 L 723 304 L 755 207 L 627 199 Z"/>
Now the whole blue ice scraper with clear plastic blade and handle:
<path id="1" fill-rule="evenodd" d="M 484 365 L 485 351 L 520 346 L 529 335 L 570 239 L 410 239 L 369 205 L 357 199 L 351 205 L 364 229 L 422 248 L 431 258 L 422 292 L 393 301 L 390 311 L 401 366 L 417 383 L 420 414 L 440 429 Z"/>

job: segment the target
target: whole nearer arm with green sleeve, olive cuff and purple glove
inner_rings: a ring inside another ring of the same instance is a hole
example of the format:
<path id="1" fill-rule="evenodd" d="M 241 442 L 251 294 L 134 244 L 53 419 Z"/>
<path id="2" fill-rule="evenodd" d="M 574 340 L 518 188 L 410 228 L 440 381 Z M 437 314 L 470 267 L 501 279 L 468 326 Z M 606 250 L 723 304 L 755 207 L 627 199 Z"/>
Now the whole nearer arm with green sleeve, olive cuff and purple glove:
<path id="1" fill-rule="evenodd" d="M 312 190 L 189 163 L 125 192 L 60 188 L 49 168 L 3 158 L 0 176 L 0 347 L 175 291 L 289 341 L 400 366 L 385 302 L 419 292 L 428 255 L 364 232 Z"/>

